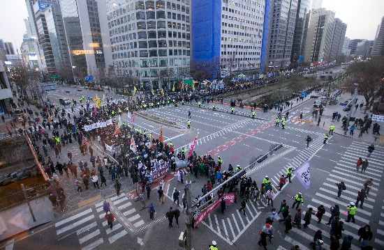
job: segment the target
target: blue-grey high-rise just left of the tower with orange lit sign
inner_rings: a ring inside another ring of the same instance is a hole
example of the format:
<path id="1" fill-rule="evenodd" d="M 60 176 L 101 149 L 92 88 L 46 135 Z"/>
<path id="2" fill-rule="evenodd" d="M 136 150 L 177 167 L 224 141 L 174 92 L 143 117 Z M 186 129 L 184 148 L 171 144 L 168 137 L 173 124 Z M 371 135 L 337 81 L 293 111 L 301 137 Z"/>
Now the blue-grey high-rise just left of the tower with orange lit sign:
<path id="1" fill-rule="evenodd" d="M 57 75 L 59 68 L 69 63 L 66 33 L 59 4 L 53 3 L 40 6 L 40 2 L 34 3 L 34 13 L 38 38 L 43 48 L 47 72 Z"/>

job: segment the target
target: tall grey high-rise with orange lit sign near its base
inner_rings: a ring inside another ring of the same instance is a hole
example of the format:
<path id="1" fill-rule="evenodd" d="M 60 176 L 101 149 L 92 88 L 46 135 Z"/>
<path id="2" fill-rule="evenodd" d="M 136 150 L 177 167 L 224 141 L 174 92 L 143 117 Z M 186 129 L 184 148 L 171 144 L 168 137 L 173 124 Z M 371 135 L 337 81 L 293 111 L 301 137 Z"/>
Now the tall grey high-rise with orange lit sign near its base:
<path id="1" fill-rule="evenodd" d="M 60 6 L 75 77 L 98 80 L 112 63 L 105 0 L 61 0 Z"/>

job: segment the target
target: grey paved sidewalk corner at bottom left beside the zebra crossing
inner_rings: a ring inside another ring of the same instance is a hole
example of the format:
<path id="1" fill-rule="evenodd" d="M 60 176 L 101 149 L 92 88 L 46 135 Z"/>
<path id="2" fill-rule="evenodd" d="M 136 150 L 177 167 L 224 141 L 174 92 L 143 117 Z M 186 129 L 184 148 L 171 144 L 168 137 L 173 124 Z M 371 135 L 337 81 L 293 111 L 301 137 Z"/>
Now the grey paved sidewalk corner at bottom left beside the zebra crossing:
<path id="1" fill-rule="evenodd" d="M 36 198 L 30 204 L 36 221 L 32 219 L 27 203 L 0 212 L 0 242 L 54 220 L 52 203 L 48 196 Z"/>

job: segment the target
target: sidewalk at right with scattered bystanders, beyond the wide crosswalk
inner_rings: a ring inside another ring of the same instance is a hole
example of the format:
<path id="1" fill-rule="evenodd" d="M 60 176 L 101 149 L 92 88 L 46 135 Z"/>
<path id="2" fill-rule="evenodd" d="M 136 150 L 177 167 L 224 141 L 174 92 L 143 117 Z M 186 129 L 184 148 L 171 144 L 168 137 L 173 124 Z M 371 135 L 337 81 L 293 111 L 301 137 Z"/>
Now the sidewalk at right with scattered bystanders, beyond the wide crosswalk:
<path id="1" fill-rule="evenodd" d="M 341 96 L 337 97 L 338 103 L 336 105 L 327 104 L 327 106 L 325 106 L 325 108 L 324 108 L 323 116 L 321 116 L 320 127 L 322 127 L 324 130 L 327 130 L 327 132 L 329 132 L 330 125 L 333 124 L 334 125 L 334 133 L 344 135 L 344 130 L 341 127 L 343 125 L 343 123 L 341 122 L 341 119 L 344 116 L 348 116 L 348 112 L 343 111 L 345 106 L 341 106 L 340 103 L 345 102 L 346 100 L 350 100 L 351 98 L 352 98 L 352 96 L 350 95 L 350 93 L 344 93 L 344 94 L 341 94 Z M 357 95 L 357 103 L 360 104 L 361 101 L 364 102 L 364 97 L 362 95 Z M 364 119 L 364 116 L 366 116 L 368 114 L 369 118 L 371 118 L 371 114 L 372 114 L 371 111 L 367 110 L 367 113 L 364 114 L 364 107 L 362 107 L 361 110 L 360 110 L 360 107 L 357 108 L 357 110 L 355 109 L 355 107 L 353 107 L 352 117 Z M 336 111 L 339 112 L 339 114 L 341 114 L 341 118 L 339 121 L 337 121 L 336 119 L 332 120 L 332 114 Z M 380 125 L 381 127 L 383 127 L 383 125 L 384 125 L 383 122 L 379 122 L 379 121 L 374 120 L 374 121 L 372 121 L 371 128 L 369 129 L 369 134 L 364 133 L 362 137 L 358 138 L 358 136 L 360 134 L 360 126 L 357 126 L 353 136 L 350 135 L 349 128 L 348 128 L 346 135 L 344 135 L 344 136 L 348 136 L 350 138 L 354 138 L 357 140 L 367 141 L 370 143 L 384 144 L 384 141 L 383 141 L 384 136 L 383 135 L 380 136 L 380 138 L 376 138 L 376 141 L 375 141 L 374 136 L 378 136 L 378 134 L 372 134 L 372 127 L 373 127 L 374 123 L 378 123 L 378 125 Z M 315 121 L 314 118 L 313 118 L 313 124 L 317 124 L 317 121 Z M 351 124 L 353 124 L 353 122 L 350 122 L 350 125 Z M 381 130 L 381 132 L 382 132 L 382 130 Z M 381 133 L 381 134 L 383 134 L 383 133 Z"/>

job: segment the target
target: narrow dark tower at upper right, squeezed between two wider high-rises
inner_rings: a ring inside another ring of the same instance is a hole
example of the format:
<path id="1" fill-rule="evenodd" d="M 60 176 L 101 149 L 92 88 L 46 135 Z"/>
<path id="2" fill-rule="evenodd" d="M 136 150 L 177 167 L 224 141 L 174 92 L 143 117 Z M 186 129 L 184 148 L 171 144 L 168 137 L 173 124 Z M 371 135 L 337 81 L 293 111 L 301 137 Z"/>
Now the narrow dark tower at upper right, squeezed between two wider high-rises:
<path id="1" fill-rule="evenodd" d="M 313 0 L 316 1 L 316 0 Z M 290 61 L 296 62 L 303 55 L 305 44 L 305 32 L 308 25 L 309 13 L 311 13 L 312 0 L 298 0 L 295 22 L 295 32 L 293 35 L 292 54 Z"/>

